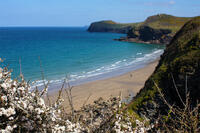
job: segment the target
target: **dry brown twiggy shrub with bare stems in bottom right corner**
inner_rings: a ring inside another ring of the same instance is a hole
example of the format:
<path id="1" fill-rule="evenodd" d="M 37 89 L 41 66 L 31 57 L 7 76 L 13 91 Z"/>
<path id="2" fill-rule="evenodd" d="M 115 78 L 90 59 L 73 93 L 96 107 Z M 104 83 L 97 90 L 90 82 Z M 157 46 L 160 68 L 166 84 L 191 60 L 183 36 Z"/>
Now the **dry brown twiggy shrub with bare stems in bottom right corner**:
<path id="1" fill-rule="evenodd" d="M 155 83 L 155 82 L 154 82 Z M 175 85 L 177 95 L 183 106 L 170 104 L 161 92 L 161 89 L 155 83 L 163 102 L 168 106 L 167 115 L 161 115 L 156 121 L 154 130 L 161 132 L 178 132 L 178 133 L 199 133 L 200 132 L 200 104 L 191 104 L 189 92 L 185 92 L 185 101 L 180 96 Z M 185 88 L 187 90 L 187 86 Z M 159 124 L 158 124 L 159 123 Z"/>

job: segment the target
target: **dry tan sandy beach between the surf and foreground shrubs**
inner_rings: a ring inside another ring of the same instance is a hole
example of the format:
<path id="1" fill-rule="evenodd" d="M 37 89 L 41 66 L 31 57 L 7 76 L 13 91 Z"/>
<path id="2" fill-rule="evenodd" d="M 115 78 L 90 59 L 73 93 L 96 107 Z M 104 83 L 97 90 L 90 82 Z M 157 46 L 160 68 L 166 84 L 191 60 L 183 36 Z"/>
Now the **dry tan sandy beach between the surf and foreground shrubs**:
<path id="1" fill-rule="evenodd" d="M 123 98 L 127 98 L 130 94 L 136 95 L 144 86 L 148 77 L 153 73 L 157 64 L 158 60 L 143 68 L 128 72 L 121 76 L 74 86 L 72 89 L 74 108 L 78 110 L 83 104 L 92 104 L 100 97 L 106 100 L 112 96 L 119 96 L 120 94 L 122 94 Z M 55 101 L 57 96 L 58 92 L 51 93 L 51 101 Z M 65 91 L 63 91 L 62 96 L 64 98 L 63 106 L 66 110 L 69 110 L 70 106 Z"/>

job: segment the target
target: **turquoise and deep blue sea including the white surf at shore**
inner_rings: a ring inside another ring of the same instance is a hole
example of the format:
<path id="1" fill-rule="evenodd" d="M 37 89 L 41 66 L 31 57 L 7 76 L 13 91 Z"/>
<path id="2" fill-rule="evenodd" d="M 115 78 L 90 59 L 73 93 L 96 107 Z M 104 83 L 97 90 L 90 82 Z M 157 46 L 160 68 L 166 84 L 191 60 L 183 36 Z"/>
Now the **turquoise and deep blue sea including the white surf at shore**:
<path id="1" fill-rule="evenodd" d="M 89 33 L 79 27 L 0 28 L 0 57 L 13 69 L 21 68 L 26 80 L 59 84 L 68 77 L 72 84 L 120 75 L 158 58 L 164 47 L 114 41 L 125 36 Z M 40 60 L 39 60 L 40 58 Z"/>

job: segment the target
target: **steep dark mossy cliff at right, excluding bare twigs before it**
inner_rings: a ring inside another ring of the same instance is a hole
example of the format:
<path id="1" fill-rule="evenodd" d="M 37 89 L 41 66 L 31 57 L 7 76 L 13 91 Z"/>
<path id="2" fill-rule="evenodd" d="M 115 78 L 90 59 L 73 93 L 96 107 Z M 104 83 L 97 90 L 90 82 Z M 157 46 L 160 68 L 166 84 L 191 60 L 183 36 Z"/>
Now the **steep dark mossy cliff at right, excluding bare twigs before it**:
<path id="1" fill-rule="evenodd" d="M 187 22 L 173 37 L 154 73 L 129 105 L 129 109 L 148 117 L 166 113 L 168 108 L 162 102 L 154 82 L 165 99 L 176 106 L 183 105 L 177 90 L 183 101 L 188 91 L 192 105 L 200 100 L 200 17 Z"/>

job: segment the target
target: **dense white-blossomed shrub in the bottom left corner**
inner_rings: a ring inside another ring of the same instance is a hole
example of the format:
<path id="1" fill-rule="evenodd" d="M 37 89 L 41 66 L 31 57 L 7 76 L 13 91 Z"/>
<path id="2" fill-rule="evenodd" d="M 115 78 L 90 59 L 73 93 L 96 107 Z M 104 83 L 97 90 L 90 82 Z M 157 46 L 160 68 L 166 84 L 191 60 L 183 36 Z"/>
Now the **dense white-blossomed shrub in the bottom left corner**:
<path id="1" fill-rule="evenodd" d="M 0 132 L 81 132 L 79 124 L 61 119 L 61 99 L 47 106 L 42 99 L 47 88 L 30 89 L 23 76 L 12 80 L 11 71 L 0 68 Z"/>

